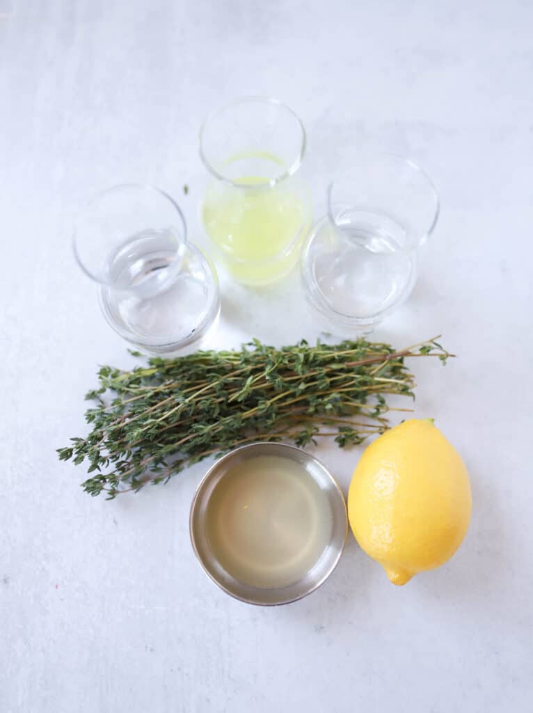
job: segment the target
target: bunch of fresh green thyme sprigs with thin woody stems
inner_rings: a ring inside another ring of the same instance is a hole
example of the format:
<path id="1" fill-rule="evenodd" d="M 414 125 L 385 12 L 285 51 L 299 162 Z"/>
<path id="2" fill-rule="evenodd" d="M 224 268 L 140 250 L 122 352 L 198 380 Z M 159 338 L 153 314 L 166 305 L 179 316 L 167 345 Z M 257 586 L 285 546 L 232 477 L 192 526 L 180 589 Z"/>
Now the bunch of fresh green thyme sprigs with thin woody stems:
<path id="1" fill-rule="evenodd" d="M 388 411 L 410 410 L 390 409 L 385 394 L 413 396 L 404 359 L 427 355 L 452 356 L 435 339 L 400 352 L 363 339 L 281 349 L 254 339 L 240 351 L 154 357 L 133 371 L 102 366 L 86 394 L 96 401 L 86 411 L 92 431 L 58 448 L 59 458 L 88 464 L 86 493 L 114 498 L 252 441 L 362 443 L 388 428 Z"/>

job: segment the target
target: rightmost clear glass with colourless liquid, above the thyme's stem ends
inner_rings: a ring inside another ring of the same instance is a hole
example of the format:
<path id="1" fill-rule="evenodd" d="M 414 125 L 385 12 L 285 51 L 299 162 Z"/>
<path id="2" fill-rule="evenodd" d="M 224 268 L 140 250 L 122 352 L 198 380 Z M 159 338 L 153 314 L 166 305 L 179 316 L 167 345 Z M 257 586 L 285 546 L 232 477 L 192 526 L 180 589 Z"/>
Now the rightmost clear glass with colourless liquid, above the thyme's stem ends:
<path id="1" fill-rule="evenodd" d="M 361 156 L 328 187 L 328 213 L 301 257 L 304 292 L 326 327 L 371 332 L 412 292 L 417 253 L 438 219 L 438 195 L 408 158 Z"/>

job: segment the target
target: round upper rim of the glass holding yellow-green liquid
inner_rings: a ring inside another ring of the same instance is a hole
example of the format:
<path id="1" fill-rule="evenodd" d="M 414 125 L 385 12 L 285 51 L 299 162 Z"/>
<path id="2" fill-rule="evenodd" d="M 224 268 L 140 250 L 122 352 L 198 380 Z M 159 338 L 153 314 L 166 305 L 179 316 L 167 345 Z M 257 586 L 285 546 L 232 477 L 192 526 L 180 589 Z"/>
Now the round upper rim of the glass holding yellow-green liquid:
<path id="1" fill-rule="evenodd" d="M 207 158 L 207 155 L 205 154 L 204 150 L 204 135 L 205 135 L 205 130 L 207 128 L 207 125 L 214 119 L 217 118 L 222 112 L 227 111 L 227 109 L 232 108 L 234 106 L 238 106 L 239 104 L 244 104 L 244 103 L 252 103 L 252 102 L 257 102 L 257 103 L 265 103 L 265 104 L 270 104 L 271 106 L 276 106 L 278 108 L 281 108 L 283 111 L 286 111 L 289 113 L 294 119 L 296 119 L 296 122 L 299 125 L 299 129 L 301 131 L 301 142 L 300 142 L 300 149 L 298 152 L 298 155 L 296 156 L 295 160 L 289 168 L 284 170 L 282 173 L 277 175 L 275 178 L 271 178 L 268 181 L 265 181 L 264 183 L 237 183 L 231 178 L 228 178 L 227 175 L 224 175 L 223 173 L 220 173 L 212 163 L 209 161 Z M 224 181 L 224 183 L 229 183 L 229 185 L 232 185 L 234 188 L 244 188 L 244 189 L 264 189 L 265 187 L 267 188 L 274 188 L 275 185 L 278 185 L 281 183 L 281 181 L 286 180 L 286 178 L 290 178 L 292 175 L 296 173 L 296 171 L 300 168 L 301 162 L 304 160 L 304 155 L 306 153 L 306 147 L 307 147 L 307 134 L 306 130 L 304 127 L 304 123 L 302 122 L 301 118 L 296 114 L 296 112 L 290 108 L 286 103 L 283 101 L 280 101 L 279 99 L 276 99 L 271 96 L 260 96 L 260 95 L 251 95 L 251 96 L 241 96 L 232 99 L 231 101 L 228 101 L 227 103 L 222 104 L 221 106 L 218 106 L 217 108 L 213 109 L 212 111 L 207 114 L 205 119 L 202 121 L 202 125 L 200 126 L 200 133 L 198 134 L 198 147 L 199 147 L 199 153 L 200 153 L 200 159 L 202 160 L 202 163 L 205 165 L 205 168 L 214 175 L 215 178 L 218 180 Z"/>

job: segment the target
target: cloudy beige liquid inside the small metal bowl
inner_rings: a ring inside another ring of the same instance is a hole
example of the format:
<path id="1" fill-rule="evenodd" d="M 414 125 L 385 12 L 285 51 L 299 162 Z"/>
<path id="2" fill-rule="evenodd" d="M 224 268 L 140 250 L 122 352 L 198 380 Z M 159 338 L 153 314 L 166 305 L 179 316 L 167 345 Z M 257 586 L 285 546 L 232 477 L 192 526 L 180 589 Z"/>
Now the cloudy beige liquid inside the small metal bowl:
<path id="1" fill-rule="evenodd" d="M 303 578 L 327 547 L 326 493 L 290 458 L 257 456 L 234 466 L 212 493 L 207 538 L 224 569 L 258 588 Z"/>

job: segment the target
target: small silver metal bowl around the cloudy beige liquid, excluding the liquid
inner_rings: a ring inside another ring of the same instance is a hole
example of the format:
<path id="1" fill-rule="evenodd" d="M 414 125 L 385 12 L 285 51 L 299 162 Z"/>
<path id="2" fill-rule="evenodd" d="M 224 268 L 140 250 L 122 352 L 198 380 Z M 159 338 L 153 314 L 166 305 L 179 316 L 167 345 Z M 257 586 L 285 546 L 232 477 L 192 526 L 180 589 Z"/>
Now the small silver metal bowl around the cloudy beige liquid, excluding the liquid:
<path id="1" fill-rule="evenodd" d="M 227 572 L 214 555 L 207 538 L 207 506 L 214 488 L 227 475 L 229 470 L 247 458 L 256 456 L 282 456 L 291 458 L 304 466 L 310 478 L 318 483 L 324 498 L 327 498 L 332 513 L 331 537 L 319 560 L 306 573 L 304 578 L 286 587 L 256 588 L 240 582 Z M 215 584 L 232 597 L 262 606 L 288 604 L 314 592 L 326 581 L 336 568 L 341 558 L 346 534 L 348 517 L 346 503 L 341 488 L 338 487 L 331 473 L 313 456 L 296 446 L 287 443 L 250 443 L 227 453 L 209 468 L 197 488 L 190 511 L 190 537 L 195 554 L 205 573 Z"/>

